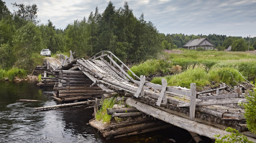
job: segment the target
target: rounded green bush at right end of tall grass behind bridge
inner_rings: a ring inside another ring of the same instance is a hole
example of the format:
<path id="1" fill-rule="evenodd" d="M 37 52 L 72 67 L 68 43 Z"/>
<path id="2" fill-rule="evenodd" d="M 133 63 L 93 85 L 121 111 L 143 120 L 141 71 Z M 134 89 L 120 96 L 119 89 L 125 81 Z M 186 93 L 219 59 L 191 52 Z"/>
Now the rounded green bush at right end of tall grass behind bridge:
<path id="1" fill-rule="evenodd" d="M 237 82 L 243 82 L 244 78 L 237 69 L 232 67 L 220 68 L 213 67 L 209 70 L 209 80 L 224 82 L 225 84 L 237 85 Z"/>

